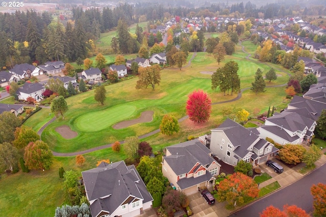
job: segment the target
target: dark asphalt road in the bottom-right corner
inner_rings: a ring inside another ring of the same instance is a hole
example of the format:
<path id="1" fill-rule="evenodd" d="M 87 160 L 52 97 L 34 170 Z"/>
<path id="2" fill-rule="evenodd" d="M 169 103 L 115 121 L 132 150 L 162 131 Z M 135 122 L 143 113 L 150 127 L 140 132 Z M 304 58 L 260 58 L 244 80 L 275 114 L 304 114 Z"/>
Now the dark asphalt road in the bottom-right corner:
<path id="1" fill-rule="evenodd" d="M 236 217 L 259 217 L 267 206 L 273 205 L 283 210 L 283 205 L 296 205 L 306 210 L 307 213 L 313 212 L 313 198 L 310 194 L 310 187 L 312 184 L 318 182 L 326 183 L 326 164 L 314 170 L 309 175 L 294 182 L 293 184 L 271 194 L 255 203 L 250 204 L 246 208 L 230 215 Z M 311 215 L 312 216 L 312 215 Z"/>

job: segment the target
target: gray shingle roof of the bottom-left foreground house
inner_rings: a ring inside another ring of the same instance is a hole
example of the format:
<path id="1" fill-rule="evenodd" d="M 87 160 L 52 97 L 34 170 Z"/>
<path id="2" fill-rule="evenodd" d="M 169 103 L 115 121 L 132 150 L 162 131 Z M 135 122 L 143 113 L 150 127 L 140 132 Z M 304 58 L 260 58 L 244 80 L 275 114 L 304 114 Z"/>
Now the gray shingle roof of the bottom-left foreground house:
<path id="1" fill-rule="evenodd" d="M 133 165 L 127 167 L 124 161 L 101 163 L 97 168 L 82 172 L 82 175 L 88 199 L 96 201 L 91 206 L 93 216 L 102 210 L 113 213 L 129 197 L 144 202 L 153 200 L 137 170 Z"/>

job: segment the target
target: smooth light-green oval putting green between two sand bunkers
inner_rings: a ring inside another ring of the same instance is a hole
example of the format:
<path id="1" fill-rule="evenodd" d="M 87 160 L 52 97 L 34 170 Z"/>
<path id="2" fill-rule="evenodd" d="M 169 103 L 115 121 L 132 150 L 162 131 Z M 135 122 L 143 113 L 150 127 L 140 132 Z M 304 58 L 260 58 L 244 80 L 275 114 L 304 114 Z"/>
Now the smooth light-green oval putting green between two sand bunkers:
<path id="1" fill-rule="evenodd" d="M 129 105 L 114 106 L 110 109 L 91 112 L 77 117 L 74 124 L 81 131 L 100 131 L 131 116 L 135 110 L 134 106 Z"/>

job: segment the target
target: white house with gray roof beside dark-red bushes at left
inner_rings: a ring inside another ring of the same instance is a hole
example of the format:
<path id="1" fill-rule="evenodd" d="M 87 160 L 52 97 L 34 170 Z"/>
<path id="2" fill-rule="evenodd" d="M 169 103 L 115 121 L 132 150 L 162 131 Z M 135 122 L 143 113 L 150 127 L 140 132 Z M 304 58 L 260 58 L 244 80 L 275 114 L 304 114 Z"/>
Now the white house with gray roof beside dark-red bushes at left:
<path id="1" fill-rule="evenodd" d="M 45 91 L 45 87 L 43 84 L 38 82 L 29 83 L 26 82 L 24 85 L 18 88 L 16 94 L 19 100 L 27 100 L 27 98 L 32 97 L 37 102 L 43 99 L 43 92 Z"/>

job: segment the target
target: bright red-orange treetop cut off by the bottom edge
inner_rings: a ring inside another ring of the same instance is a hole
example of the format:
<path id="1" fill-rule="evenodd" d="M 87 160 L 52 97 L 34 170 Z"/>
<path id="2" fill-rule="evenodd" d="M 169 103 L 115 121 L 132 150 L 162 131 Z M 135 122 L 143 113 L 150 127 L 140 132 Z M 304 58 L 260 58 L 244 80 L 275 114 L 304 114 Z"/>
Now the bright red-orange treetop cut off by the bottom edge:
<path id="1" fill-rule="evenodd" d="M 296 205 L 284 205 L 283 211 L 274 206 L 268 206 L 260 213 L 260 217 L 309 217 L 306 211 Z"/>

